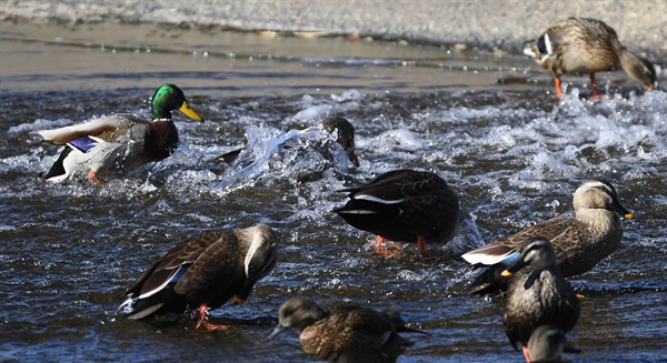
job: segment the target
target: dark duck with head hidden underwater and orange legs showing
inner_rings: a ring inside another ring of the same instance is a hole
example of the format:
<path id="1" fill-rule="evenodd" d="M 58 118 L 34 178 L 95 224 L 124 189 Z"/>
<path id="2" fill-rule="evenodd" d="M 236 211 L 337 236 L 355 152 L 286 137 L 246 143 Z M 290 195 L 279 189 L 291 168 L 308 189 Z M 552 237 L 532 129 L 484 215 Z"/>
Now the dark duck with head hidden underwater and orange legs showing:
<path id="1" fill-rule="evenodd" d="M 350 199 L 334 210 L 352 226 L 384 239 L 417 241 L 422 256 L 430 256 L 426 241 L 448 242 L 456 233 L 461 211 L 456 194 L 442 178 L 424 171 L 395 170 L 369 183 L 341 190 Z"/>

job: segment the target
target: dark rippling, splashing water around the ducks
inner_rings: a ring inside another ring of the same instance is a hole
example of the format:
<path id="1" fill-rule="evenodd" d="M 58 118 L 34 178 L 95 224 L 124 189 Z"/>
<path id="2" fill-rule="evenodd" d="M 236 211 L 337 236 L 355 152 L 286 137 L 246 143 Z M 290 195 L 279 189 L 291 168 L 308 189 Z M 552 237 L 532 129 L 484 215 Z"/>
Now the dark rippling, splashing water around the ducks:
<path id="1" fill-rule="evenodd" d="M 454 254 L 571 215 L 583 181 L 611 180 L 637 219 L 613 256 L 573 280 L 586 299 L 568 334 L 583 353 L 568 357 L 667 353 L 664 91 L 644 94 L 623 73 L 604 73 L 620 95 L 588 101 L 578 97 L 586 78 L 570 77 L 558 102 L 546 72 L 524 57 L 394 42 L 150 24 L 2 22 L 1 34 L 3 361 L 302 361 L 296 331 L 266 336 L 280 304 L 308 294 L 399 310 L 430 333 L 408 336 L 416 344 L 402 362 L 520 362 L 501 329 L 504 300 L 462 293 L 464 262 L 425 261 L 415 244 L 380 258 L 372 235 L 331 213 L 345 203 L 336 190 L 398 168 L 437 172 L 459 193 L 474 224 Z M 177 115 L 181 145 L 171 158 L 104 188 L 39 178 L 58 148 L 30 131 L 147 114 L 163 82 L 179 84 L 207 120 Z M 357 128 L 360 168 L 330 145 L 326 115 Z M 219 160 L 246 143 L 231 165 Z M 280 261 L 245 305 L 212 312 L 235 329 L 115 315 L 125 290 L 173 243 L 259 222 L 280 233 Z"/>

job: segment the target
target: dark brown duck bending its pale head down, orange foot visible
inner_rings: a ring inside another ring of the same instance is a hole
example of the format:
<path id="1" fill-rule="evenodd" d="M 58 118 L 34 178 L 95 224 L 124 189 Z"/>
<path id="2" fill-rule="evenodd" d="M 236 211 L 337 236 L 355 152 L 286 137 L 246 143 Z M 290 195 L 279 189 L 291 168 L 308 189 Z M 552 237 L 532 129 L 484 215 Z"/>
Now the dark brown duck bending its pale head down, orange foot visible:
<path id="1" fill-rule="evenodd" d="M 233 299 L 242 304 L 255 283 L 276 266 L 278 236 L 266 224 L 202 232 L 173 248 L 126 293 L 117 311 L 139 320 L 199 307 L 199 323 L 209 309 Z"/>

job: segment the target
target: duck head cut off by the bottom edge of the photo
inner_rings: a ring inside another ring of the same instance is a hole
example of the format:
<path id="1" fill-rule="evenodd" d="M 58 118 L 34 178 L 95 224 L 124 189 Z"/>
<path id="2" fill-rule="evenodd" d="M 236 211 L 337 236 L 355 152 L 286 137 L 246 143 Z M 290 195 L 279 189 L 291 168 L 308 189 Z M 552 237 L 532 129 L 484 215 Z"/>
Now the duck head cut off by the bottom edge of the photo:
<path id="1" fill-rule="evenodd" d="M 528 340 L 528 355 L 531 363 L 566 362 L 560 353 L 579 353 L 579 349 L 568 345 L 565 332 L 554 324 L 540 325 Z"/>

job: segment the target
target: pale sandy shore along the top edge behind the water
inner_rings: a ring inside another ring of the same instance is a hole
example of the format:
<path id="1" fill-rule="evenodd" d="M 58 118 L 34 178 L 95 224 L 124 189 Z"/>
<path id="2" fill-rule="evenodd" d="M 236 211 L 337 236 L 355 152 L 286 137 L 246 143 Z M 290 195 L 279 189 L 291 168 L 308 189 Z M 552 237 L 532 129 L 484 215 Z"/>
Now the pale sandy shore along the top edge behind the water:
<path id="1" fill-rule="evenodd" d="M 517 52 L 549 23 L 570 16 L 598 18 L 628 48 L 667 54 L 665 0 L 1 0 L 4 20 L 128 21 L 220 26 L 248 31 L 358 32 L 382 39 L 465 43 Z"/>

